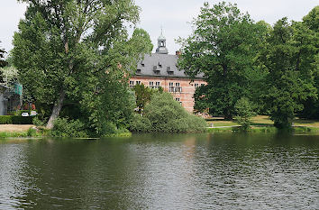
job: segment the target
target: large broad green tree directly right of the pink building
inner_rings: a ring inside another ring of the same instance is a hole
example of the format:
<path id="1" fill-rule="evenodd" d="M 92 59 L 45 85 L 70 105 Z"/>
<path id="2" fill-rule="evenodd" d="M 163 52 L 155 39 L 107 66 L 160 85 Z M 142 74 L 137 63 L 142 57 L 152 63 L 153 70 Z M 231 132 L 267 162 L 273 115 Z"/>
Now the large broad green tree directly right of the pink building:
<path id="1" fill-rule="evenodd" d="M 234 105 L 250 93 L 251 76 L 259 44 L 267 28 L 253 23 L 236 5 L 205 3 L 193 23 L 194 32 L 179 40 L 182 54 L 178 65 L 191 78 L 204 73 L 206 86 L 196 91 L 195 109 L 232 119 Z"/>

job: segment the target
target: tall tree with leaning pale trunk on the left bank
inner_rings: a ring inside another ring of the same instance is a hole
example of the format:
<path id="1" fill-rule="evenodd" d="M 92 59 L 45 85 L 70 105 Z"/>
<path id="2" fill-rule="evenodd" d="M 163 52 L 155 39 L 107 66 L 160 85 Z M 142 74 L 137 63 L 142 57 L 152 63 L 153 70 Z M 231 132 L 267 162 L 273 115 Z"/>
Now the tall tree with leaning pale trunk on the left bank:
<path id="1" fill-rule="evenodd" d="M 14 34 L 13 50 L 23 86 L 52 107 L 48 128 L 68 101 L 83 106 L 80 110 L 98 134 L 101 127 L 96 122 L 106 112 L 100 106 L 113 105 L 114 97 L 107 97 L 106 91 L 114 87 L 123 91 L 117 96 L 126 96 L 123 84 L 129 69 L 134 70 L 141 55 L 152 48 L 147 32 L 135 29 L 129 39 L 125 27 L 137 23 L 139 7 L 132 0 L 23 2 L 29 5 Z"/>

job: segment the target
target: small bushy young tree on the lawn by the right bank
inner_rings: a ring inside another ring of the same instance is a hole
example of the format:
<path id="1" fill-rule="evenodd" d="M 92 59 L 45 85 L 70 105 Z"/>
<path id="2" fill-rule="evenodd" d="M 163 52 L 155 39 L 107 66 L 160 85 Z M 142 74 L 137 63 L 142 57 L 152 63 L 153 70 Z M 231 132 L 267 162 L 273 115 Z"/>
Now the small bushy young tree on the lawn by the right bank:
<path id="1" fill-rule="evenodd" d="M 235 105 L 236 121 L 242 125 L 241 130 L 248 132 L 251 129 L 251 117 L 256 115 L 248 98 L 242 97 Z"/>

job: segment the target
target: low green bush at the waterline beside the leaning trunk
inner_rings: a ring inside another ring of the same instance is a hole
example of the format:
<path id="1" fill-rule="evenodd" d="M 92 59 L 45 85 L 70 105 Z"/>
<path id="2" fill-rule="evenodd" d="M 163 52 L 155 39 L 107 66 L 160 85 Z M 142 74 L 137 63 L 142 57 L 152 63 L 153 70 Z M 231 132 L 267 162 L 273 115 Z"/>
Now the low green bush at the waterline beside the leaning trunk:
<path id="1" fill-rule="evenodd" d="M 54 137 L 87 137 L 85 124 L 79 120 L 58 118 L 54 121 L 50 134 Z"/>

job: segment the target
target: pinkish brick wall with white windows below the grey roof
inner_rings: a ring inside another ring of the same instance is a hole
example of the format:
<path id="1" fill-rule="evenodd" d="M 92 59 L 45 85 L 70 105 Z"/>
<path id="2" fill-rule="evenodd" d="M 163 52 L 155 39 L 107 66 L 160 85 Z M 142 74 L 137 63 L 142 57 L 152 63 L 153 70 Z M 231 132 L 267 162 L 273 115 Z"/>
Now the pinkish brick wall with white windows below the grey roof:
<path id="1" fill-rule="evenodd" d="M 170 92 L 173 97 L 190 113 L 194 110 L 194 93 L 196 90 L 196 84 L 201 86 L 206 84 L 203 79 L 196 78 L 194 82 L 191 82 L 189 78 L 164 78 L 164 77 L 147 77 L 147 76 L 133 76 L 130 79 L 130 87 L 135 86 L 137 82 L 141 82 L 146 87 L 156 88 L 156 82 L 160 82 L 160 87 L 164 88 L 164 91 Z M 150 84 L 153 82 L 153 85 Z M 173 83 L 173 87 L 169 86 Z M 179 83 L 179 87 L 177 86 Z"/>

